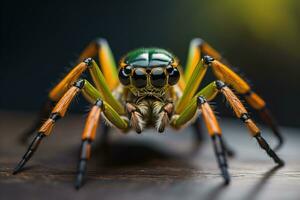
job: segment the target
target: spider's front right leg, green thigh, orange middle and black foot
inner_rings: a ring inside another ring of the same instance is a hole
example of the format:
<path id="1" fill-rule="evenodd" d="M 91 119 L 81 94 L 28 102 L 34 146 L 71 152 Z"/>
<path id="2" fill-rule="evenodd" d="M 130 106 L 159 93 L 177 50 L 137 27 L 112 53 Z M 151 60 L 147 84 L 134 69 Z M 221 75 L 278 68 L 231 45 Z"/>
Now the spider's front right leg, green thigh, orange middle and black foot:
<path id="1" fill-rule="evenodd" d="M 200 110 L 208 133 L 212 139 L 217 162 L 225 184 L 228 184 L 230 182 L 230 175 L 227 169 L 226 150 L 222 140 L 221 128 L 206 99 L 202 96 L 196 96 L 193 98 L 192 102 L 186 106 L 186 109 L 180 115 L 177 115 L 172 119 L 171 125 L 175 128 L 179 128 L 186 124 L 193 117 L 197 109 Z"/>

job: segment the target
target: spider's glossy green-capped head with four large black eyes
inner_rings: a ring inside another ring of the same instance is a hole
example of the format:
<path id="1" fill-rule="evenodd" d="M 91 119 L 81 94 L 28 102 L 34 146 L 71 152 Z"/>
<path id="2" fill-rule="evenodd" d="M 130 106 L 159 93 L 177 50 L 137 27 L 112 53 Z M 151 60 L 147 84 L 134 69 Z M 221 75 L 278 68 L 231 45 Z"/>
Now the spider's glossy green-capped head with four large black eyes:
<path id="1" fill-rule="evenodd" d="M 119 79 L 134 93 L 164 92 L 179 81 L 177 66 L 175 56 L 164 49 L 140 48 L 122 58 Z"/>

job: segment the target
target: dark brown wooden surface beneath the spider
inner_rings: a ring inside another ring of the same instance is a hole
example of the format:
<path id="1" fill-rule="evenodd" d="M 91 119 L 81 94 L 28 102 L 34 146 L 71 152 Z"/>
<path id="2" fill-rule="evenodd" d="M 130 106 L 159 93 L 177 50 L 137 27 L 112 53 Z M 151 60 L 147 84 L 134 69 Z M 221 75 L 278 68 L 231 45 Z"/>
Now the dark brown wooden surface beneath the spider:
<path id="1" fill-rule="evenodd" d="M 277 169 L 242 123 L 221 120 L 224 136 L 237 152 L 229 160 L 232 182 L 227 187 L 211 142 L 196 148 L 189 128 L 175 134 L 150 130 L 125 136 L 113 131 L 108 148 L 99 142 L 93 146 L 86 184 L 76 191 L 83 115 L 59 121 L 27 167 L 11 175 L 27 148 L 18 143 L 18 136 L 33 119 L 32 114 L 0 112 L 0 199 L 300 199 L 297 129 L 283 128 L 286 144 L 278 153 L 286 166 Z"/>

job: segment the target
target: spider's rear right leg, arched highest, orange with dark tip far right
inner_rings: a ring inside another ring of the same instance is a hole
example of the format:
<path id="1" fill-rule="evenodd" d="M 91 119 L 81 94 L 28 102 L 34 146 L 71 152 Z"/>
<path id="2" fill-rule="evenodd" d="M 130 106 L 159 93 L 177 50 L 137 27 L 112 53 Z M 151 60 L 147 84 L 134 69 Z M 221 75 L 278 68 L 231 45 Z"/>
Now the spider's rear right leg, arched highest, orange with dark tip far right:
<path id="1" fill-rule="evenodd" d="M 264 123 L 272 129 L 275 137 L 278 139 L 279 142 L 275 149 L 279 149 L 283 144 L 283 137 L 270 110 L 267 108 L 265 101 L 251 90 L 246 81 L 242 80 L 235 72 L 233 72 L 233 70 L 230 69 L 228 61 L 222 57 L 217 50 L 201 38 L 195 38 L 190 43 L 188 62 L 184 74 L 185 79 L 188 80 L 191 77 L 198 61 L 202 56 L 204 57 L 204 55 L 208 55 L 225 63 L 225 65 L 219 62 L 213 64 L 215 65 L 215 67 L 213 67 L 213 71 L 217 78 L 232 85 L 239 94 L 245 97 L 248 104 L 259 112 Z"/>

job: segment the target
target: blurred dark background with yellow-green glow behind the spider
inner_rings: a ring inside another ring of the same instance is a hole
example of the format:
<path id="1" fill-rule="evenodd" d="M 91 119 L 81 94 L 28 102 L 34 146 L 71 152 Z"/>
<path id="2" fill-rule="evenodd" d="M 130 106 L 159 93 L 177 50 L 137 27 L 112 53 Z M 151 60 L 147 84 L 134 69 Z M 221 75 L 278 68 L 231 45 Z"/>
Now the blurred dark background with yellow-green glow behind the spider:
<path id="1" fill-rule="evenodd" d="M 247 75 L 280 124 L 300 125 L 300 1 L 2 0 L 0 5 L 1 110 L 37 111 L 96 37 L 108 39 L 116 59 L 137 47 L 158 46 L 182 63 L 190 40 L 201 37 Z M 82 112 L 86 105 L 73 108 Z"/>

